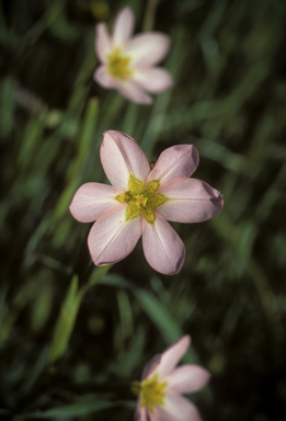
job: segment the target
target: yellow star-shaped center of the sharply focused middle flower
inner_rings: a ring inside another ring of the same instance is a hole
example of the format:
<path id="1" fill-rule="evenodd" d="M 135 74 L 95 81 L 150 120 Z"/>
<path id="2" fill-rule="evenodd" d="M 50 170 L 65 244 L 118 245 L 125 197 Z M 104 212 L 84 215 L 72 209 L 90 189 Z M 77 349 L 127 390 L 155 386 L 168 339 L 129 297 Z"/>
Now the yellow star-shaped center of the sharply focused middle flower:
<path id="1" fill-rule="evenodd" d="M 130 175 L 127 193 L 118 194 L 118 196 L 115 197 L 118 202 L 128 204 L 126 219 L 128 220 L 144 215 L 148 223 L 153 223 L 153 208 L 168 201 L 162 194 L 155 193 L 159 187 L 159 181 L 151 181 L 144 186 L 141 181 Z"/>

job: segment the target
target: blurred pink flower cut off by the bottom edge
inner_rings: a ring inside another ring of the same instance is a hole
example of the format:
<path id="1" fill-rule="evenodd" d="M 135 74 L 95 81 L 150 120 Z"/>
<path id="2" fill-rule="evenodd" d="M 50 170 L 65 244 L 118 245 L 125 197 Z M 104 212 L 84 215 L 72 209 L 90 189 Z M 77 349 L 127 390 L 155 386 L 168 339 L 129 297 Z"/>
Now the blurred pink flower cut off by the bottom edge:
<path id="1" fill-rule="evenodd" d="M 209 380 L 209 373 L 198 365 L 176 367 L 190 342 L 188 335 L 179 339 L 145 366 L 141 382 L 134 382 L 133 391 L 139 395 L 136 421 L 202 420 L 196 407 L 181 396 L 202 389 Z"/>

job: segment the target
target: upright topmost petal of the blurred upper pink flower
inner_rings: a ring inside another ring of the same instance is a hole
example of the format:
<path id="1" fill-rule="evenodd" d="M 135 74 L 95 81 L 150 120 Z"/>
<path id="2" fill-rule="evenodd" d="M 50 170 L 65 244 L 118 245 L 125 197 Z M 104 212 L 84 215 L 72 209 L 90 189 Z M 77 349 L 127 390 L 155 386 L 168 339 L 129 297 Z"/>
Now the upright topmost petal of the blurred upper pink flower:
<path id="1" fill-rule="evenodd" d="M 121 47 L 124 46 L 133 34 L 134 30 L 134 13 L 130 8 L 123 8 L 114 22 L 113 26 L 113 46 Z"/>

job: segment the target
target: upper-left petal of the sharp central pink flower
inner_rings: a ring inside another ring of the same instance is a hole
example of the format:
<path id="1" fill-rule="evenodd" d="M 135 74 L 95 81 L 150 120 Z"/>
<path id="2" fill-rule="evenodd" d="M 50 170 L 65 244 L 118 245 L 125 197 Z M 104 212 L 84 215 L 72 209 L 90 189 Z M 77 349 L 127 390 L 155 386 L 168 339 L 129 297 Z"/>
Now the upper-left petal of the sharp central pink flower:
<path id="1" fill-rule="evenodd" d="M 122 132 L 106 130 L 101 145 L 101 162 L 110 182 L 128 191 L 130 174 L 145 182 L 150 171 L 139 145 Z"/>

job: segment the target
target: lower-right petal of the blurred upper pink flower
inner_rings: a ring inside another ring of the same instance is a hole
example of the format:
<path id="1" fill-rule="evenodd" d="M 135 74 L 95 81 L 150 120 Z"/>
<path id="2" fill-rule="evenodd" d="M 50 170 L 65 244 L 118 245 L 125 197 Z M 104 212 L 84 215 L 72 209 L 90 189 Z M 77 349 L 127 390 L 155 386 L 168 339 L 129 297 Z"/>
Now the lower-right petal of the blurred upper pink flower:
<path id="1" fill-rule="evenodd" d="M 138 68 L 134 79 L 147 91 L 158 93 L 165 91 L 173 84 L 171 75 L 160 68 Z"/>

